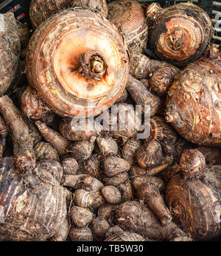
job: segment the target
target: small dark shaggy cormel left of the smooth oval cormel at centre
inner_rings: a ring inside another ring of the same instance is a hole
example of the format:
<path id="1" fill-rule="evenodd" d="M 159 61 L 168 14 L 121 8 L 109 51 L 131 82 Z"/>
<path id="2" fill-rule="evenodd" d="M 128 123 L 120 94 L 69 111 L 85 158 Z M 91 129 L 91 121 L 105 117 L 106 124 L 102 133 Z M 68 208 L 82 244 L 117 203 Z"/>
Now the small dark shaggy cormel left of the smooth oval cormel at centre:
<path id="1" fill-rule="evenodd" d="M 100 179 L 98 156 L 91 154 L 91 156 L 83 162 L 82 171 L 85 174 Z"/>

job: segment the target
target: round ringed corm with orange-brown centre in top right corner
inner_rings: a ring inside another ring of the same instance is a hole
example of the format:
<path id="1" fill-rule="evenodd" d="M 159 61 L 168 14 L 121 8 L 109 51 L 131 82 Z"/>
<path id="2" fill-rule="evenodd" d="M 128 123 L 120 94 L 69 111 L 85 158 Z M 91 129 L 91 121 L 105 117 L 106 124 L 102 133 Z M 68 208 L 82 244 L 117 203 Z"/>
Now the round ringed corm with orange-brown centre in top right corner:
<path id="1" fill-rule="evenodd" d="M 153 21 L 148 44 L 158 58 L 184 66 L 200 58 L 208 46 L 213 31 L 211 19 L 191 2 L 164 9 L 153 3 L 146 14 Z"/>

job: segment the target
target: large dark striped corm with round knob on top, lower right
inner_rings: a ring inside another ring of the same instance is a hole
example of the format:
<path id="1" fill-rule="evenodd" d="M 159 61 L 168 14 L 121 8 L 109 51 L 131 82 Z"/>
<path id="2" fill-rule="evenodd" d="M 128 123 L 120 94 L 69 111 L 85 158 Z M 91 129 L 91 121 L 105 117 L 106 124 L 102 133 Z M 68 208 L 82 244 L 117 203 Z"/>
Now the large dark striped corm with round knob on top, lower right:
<path id="1" fill-rule="evenodd" d="M 197 150 L 184 151 L 180 167 L 167 184 L 166 205 L 194 240 L 214 241 L 220 235 L 221 167 L 205 167 Z"/>

